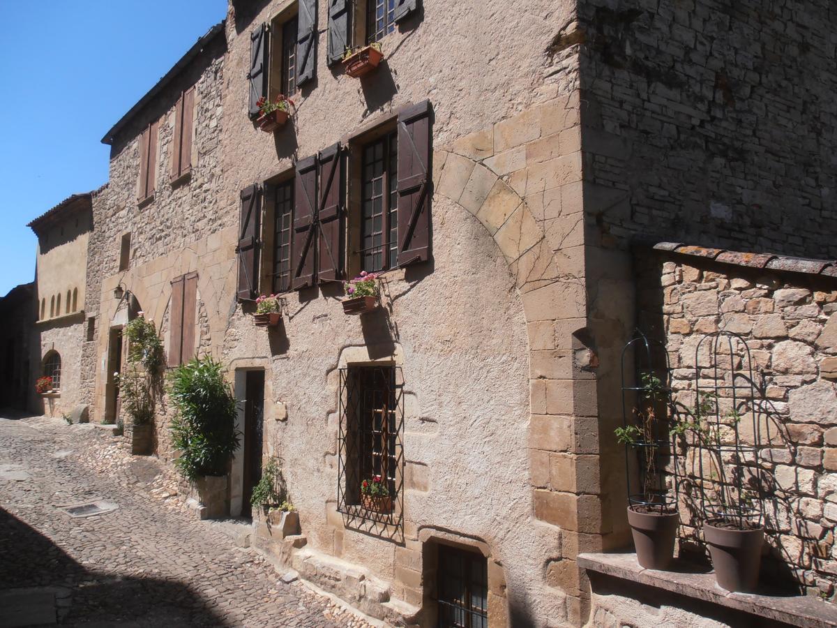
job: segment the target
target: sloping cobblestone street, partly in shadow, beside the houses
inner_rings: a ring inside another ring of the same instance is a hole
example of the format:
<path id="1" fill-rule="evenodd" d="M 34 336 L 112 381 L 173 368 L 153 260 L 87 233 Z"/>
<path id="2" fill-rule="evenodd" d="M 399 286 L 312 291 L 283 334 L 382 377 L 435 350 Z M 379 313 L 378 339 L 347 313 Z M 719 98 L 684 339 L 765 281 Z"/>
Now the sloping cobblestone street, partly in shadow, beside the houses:
<path id="1" fill-rule="evenodd" d="M 0 419 L 0 595 L 49 590 L 64 625 L 368 625 L 199 522 L 171 471 L 119 441 L 63 420 Z M 95 498 L 118 507 L 86 518 L 57 508 Z"/>

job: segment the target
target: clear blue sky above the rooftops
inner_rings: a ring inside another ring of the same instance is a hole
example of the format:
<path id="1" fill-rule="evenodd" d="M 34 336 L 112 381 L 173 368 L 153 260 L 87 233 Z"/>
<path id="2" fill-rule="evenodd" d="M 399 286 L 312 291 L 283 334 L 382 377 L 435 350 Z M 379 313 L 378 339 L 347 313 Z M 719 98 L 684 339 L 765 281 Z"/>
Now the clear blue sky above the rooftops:
<path id="1" fill-rule="evenodd" d="M 226 0 L 0 0 L 0 296 L 32 281 L 26 224 L 107 181 L 100 139 L 227 13 Z"/>

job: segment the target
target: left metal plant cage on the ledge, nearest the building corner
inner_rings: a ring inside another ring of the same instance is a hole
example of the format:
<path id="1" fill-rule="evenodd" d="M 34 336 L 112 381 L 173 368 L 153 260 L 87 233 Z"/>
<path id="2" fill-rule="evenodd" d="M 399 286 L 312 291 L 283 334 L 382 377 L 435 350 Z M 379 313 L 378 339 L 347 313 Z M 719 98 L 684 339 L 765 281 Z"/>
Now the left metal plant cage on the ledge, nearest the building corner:
<path id="1" fill-rule="evenodd" d="M 637 329 L 622 348 L 621 365 L 623 429 L 635 426 L 640 433 L 633 442 L 625 444 L 628 505 L 650 512 L 675 512 L 679 483 L 670 434 L 670 420 L 675 412 L 668 352 L 662 342 L 649 340 Z M 632 451 L 638 478 L 631 469 Z"/>

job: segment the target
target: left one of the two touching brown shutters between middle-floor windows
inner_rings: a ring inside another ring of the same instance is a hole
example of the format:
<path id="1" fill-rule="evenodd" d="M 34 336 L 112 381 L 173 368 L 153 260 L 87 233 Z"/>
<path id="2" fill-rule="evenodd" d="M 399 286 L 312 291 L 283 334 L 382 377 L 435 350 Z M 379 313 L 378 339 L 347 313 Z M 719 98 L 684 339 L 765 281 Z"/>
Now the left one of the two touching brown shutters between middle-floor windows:
<path id="1" fill-rule="evenodd" d="M 290 285 L 294 289 L 313 286 L 314 255 L 316 250 L 316 202 L 317 157 L 313 155 L 296 162 L 294 188 L 294 242 L 293 276 Z"/>

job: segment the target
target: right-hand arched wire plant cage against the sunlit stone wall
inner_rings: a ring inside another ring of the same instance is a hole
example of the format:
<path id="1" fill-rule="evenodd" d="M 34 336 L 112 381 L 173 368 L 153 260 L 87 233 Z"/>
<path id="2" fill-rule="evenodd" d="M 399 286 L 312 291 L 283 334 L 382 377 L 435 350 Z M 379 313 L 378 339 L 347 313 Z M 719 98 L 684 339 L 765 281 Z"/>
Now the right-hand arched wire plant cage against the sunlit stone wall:
<path id="1" fill-rule="evenodd" d="M 705 353 L 702 356 L 701 352 Z M 722 368 L 727 363 L 727 368 Z M 762 526 L 764 492 L 758 463 L 764 400 L 755 383 L 747 341 L 716 332 L 695 349 L 695 414 L 701 512 L 707 522 L 739 529 Z M 742 440 L 750 432 L 752 443 Z"/>

